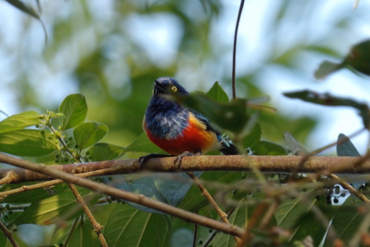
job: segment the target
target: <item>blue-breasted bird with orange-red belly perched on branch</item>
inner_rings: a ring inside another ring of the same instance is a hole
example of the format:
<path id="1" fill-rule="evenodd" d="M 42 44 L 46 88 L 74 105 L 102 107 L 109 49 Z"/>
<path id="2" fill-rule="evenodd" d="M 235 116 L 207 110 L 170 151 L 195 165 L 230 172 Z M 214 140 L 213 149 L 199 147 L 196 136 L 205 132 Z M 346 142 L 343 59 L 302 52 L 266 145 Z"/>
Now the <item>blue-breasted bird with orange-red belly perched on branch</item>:
<path id="1" fill-rule="evenodd" d="M 174 78 L 166 76 L 154 80 L 153 95 L 142 124 L 152 143 L 180 159 L 211 150 L 220 150 L 225 155 L 239 154 L 236 146 L 206 117 L 171 100 L 171 93 L 189 95 Z"/>

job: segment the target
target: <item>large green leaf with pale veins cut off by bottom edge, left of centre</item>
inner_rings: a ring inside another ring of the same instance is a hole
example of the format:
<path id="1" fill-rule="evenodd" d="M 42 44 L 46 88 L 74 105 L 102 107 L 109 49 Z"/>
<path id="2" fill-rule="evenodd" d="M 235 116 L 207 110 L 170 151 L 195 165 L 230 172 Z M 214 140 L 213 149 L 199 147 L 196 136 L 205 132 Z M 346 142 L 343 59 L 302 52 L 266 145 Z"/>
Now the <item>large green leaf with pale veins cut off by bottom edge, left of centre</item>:
<path id="1" fill-rule="evenodd" d="M 168 246 L 170 231 L 168 221 L 163 215 L 117 203 L 107 217 L 103 233 L 108 246 Z"/>

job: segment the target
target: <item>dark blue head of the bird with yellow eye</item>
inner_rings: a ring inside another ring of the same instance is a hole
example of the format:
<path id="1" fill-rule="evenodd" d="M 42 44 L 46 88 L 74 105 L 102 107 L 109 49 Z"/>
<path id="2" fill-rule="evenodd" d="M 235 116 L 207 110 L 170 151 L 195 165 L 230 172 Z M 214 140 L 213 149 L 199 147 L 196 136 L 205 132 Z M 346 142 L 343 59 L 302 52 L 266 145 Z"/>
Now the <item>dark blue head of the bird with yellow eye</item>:
<path id="1" fill-rule="evenodd" d="M 165 76 L 154 80 L 154 95 L 161 97 L 161 95 L 169 95 L 171 92 L 179 93 L 180 95 L 189 94 L 174 78 Z"/>

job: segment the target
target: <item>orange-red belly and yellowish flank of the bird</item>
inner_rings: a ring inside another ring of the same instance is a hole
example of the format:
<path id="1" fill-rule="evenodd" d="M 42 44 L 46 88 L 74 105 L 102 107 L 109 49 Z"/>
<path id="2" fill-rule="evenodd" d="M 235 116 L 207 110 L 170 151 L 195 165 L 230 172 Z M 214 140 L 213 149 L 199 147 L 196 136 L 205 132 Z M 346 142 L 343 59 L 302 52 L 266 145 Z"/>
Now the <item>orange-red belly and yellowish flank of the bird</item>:
<path id="1" fill-rule="evenodd" d="M 217 142 L 216 133 L 206 130 L 206 125 L 192 114 L 189 116 L 188 123 L 182 136 L 179 135 L 171 140 L 152 136 L 148 130 L 146 132 L 155 145 L 172 155 L 180 155 L 185 151 L 194 153 L 201 150 L 202 154 L 211 151 Z"/>

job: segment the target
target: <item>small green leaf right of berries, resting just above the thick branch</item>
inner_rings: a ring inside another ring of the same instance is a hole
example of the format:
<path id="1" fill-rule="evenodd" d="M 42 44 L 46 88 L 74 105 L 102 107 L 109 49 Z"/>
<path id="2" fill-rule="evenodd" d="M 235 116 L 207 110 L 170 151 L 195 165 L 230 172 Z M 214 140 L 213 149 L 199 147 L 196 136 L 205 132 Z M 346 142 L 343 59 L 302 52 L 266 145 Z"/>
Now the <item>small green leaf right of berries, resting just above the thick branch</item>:
<path id="1" fill-rule="evenodd" d="M 91 161 L 115 159 L 120 157 L 124 151 L 124 147 L 116 146 L 109 143 L 97 143 L 90 147 L 88 150 L 91 156 Z"/>

